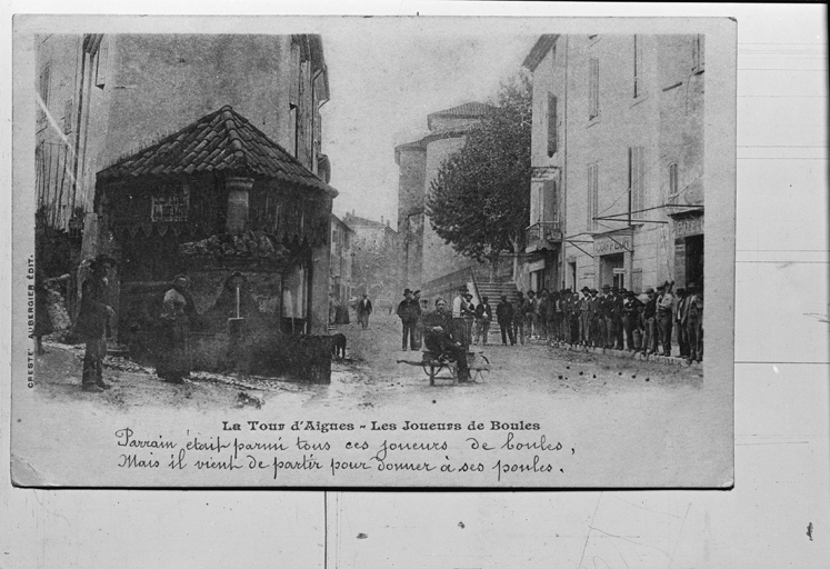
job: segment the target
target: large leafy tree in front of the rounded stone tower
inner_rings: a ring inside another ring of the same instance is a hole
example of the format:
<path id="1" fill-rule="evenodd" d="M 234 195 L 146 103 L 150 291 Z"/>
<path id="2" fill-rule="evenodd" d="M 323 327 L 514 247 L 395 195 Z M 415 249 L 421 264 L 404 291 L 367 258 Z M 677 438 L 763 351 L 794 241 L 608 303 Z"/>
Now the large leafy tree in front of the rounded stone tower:
<path id="1" fill-rule="evenodd" d="M 460 254 L 498 264 L 519 253 L 530 218 L 532 90 L 527 74 L 502 83 L 494 112 L 439 168 L 427 196 L 436 233 Z M 513 276 L 518 257 L 513 258 Z"/>

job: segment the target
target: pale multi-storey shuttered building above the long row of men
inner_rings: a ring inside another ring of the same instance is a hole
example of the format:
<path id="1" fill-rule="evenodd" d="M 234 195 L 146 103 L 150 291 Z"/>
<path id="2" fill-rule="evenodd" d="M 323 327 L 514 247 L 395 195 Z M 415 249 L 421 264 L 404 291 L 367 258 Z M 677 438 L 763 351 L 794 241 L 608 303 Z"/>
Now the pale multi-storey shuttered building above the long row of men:
<path id="1" fill-rule="evenodd" d="M 533 73 L 533 289 L 703 279 L 703 36 L 548 34 Z"/>

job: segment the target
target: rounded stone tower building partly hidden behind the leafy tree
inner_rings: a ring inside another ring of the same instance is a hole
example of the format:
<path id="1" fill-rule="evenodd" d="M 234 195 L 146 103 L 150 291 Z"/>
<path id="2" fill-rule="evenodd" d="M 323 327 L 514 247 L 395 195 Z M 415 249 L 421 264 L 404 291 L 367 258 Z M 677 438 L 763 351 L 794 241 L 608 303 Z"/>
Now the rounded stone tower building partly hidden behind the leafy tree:
<path id="1" fill-rule="evenodd" d="M 426 295 L 443 292 L 453 284 L 467 284 L 469 269 L 479 264 L 458 254 L 438 237 L 424 213 L 424 201 L 444 160 L 464 146 L 470 129 L 492 111 L 489 104 L 469 102 L 433 112 L 427 117 L 429 134 L 396 147 L 394 160 L 400 167 L 398 233 L 404 287 L 423 289 Z"/>

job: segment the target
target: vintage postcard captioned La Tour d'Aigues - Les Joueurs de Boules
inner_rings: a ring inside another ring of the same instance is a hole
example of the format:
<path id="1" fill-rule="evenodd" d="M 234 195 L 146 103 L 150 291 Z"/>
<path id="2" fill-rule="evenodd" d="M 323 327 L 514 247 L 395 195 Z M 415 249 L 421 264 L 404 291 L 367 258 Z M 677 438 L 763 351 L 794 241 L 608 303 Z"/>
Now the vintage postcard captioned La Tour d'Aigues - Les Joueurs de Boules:
<path id="1" fill-rule="evenodd" d="M 731 19 L 18 16 L 14 483 L 731 487 L 734 60 Z"/>

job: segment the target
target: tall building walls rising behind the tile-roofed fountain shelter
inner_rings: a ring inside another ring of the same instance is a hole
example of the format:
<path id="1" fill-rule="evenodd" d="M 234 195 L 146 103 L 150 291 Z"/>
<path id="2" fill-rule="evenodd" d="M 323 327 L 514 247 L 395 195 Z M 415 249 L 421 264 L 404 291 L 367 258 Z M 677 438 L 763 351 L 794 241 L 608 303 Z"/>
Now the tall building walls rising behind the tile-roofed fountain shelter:
<path id="1" fill-rule="evenodd" d="M 99 252 L 121 254 L 94 209 L 97 172 L 221 108 L 231 107 L 306 171 L 329 179 L 320 119 L 329 83 L 319 36 L 50 34 L 33 41 L 43 101 L 38 169 L 66 173 L 57 184 L 53 176 L 38 178 L 39 206 L 76 236 L 76 266 Z M 52 148 L 78 164 L 47 154 Z M 328 276 L 328 231 L 312 259 L 316 273 Z M 314 279 L 309 331 L 326 330 L 328 295 L 328 278 Z"/>

